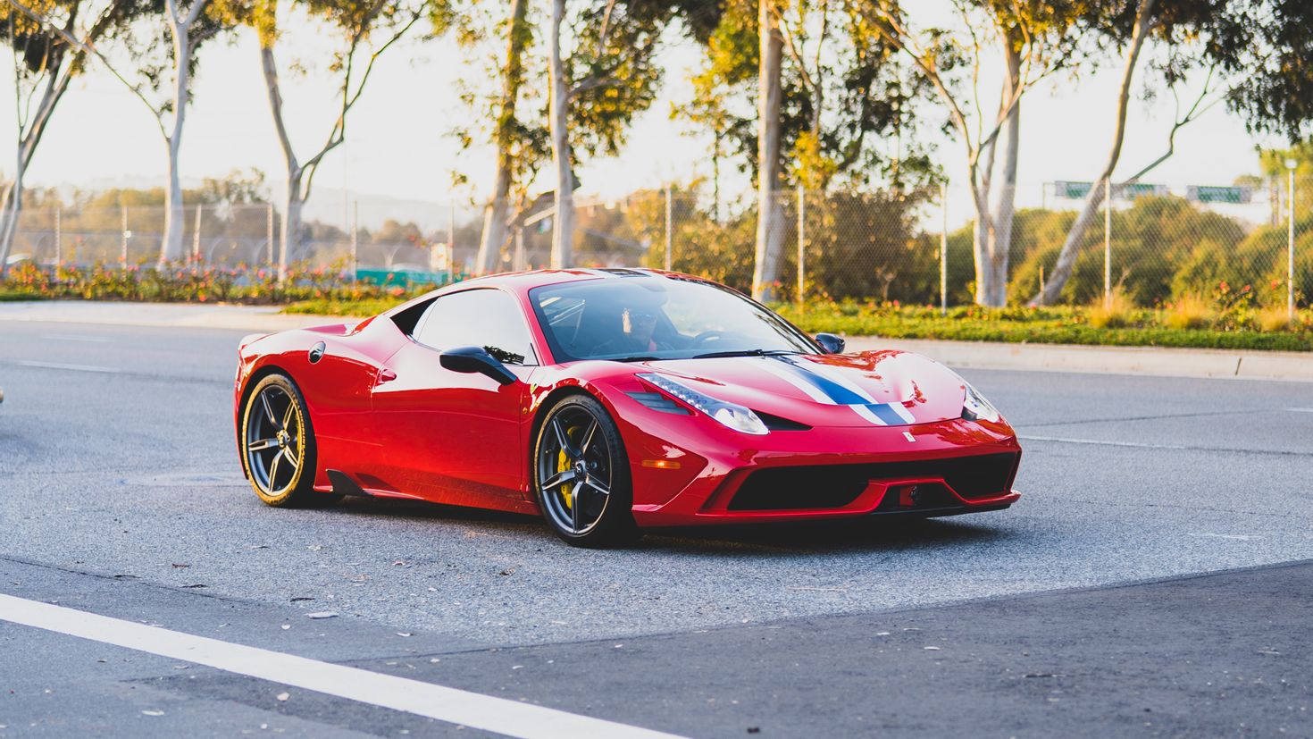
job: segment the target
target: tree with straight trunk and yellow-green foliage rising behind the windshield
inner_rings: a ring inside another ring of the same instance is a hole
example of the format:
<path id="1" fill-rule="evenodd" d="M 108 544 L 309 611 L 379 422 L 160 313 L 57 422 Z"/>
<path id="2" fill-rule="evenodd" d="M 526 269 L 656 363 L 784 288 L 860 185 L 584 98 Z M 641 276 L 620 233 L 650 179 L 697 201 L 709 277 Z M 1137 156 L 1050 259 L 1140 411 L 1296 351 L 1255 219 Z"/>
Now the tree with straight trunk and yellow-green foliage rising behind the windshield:
<path id="1" fill-rule="evenodd" d="M 693 100 L 675 110 L 712 129 L 716 180 L 727 140 L 741 167 L 759 184 L 756 221 L 763 239 L 756 242 L 754 261 L 759 298 L 776 297 L 771 293 L 785 261 L 780 247 L 786 228 L 780 219 L 783 201 L 792 200 L 783 193 L 786 184 L 809 192 L 838 186 L 859 194 L 872 186 L 899 188 L 931 172 L 918 147 L 911 147 L 911 165 L 905 168 L 901 154 L 885 148 L 886 140 L 899 139 L 897 133 L 924 84 L 905 74 L 894 50 L 865 28 L 851 3 L 775 1 L 767 11 L 781 42 L 777 112 L 763 117 L 758 110 L 767 101 L 759 91 L 769 87 L 763 87 L 762 70 L 772 70 L 773 63 L 762 62 L 763 50 L 771 53 L 772 33 L 765 26 L 767 34 L 762 34 L 762 3 L 756 0 L 726 4 L 720 25 L 706 38 L 706 60 L 693 76 Z M 769 138 L 763 131 L 779 137 L 773 181 L 763 177 L 760 148 Z M 764 200 L 775 206 L 764 211 L 763 185 L 772 188 Z M 713 186 L 718 190 L 718 182 Z"/>

